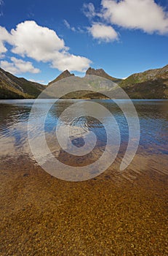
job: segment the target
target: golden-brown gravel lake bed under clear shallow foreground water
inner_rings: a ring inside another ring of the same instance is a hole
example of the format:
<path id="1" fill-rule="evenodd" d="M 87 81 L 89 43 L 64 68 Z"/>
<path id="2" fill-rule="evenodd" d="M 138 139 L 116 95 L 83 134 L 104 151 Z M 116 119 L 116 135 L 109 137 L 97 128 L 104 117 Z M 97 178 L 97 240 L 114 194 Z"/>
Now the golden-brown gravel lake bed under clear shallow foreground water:
<path id="1" fill-rule="evenodd" d="M 15 107 L 11 108 L 17 115 Z M 21 120 L 21 135 L 16 121 L 12 133 L 12 111 L 3 118 L 5 135 L 1 126 L 0 255 L 168 255 L 167 139 L 166 128 L 161 128 L 166 127 L 165 115 L 161 113 L 161 127 L 153 121 L 151 129 L 162 129 L 163 138 L 158 135 L 155 141 L 146 128 L 145 112 L 143 129 L 149 137 L 143 137 L 126 170 L 119 171 L 123 143 L 104 173 L 73 182 L 50 176 L 37 165 L 23 140 L 26 118 Z M 61 158 L 78 164 L 60 151 Z M 82 165 L 84 159 L 80 161 Z"/>

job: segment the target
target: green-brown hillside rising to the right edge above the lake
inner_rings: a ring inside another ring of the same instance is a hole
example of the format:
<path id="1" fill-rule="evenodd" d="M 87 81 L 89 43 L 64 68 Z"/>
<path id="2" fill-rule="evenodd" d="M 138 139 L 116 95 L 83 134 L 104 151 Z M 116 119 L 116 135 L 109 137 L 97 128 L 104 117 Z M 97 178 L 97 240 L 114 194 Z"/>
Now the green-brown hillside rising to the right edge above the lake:
<path id="1" fill-rule="evenodd" d="M 130 75 L 119 86 L 132 99 L 168 99 L 168 65 Z"/>

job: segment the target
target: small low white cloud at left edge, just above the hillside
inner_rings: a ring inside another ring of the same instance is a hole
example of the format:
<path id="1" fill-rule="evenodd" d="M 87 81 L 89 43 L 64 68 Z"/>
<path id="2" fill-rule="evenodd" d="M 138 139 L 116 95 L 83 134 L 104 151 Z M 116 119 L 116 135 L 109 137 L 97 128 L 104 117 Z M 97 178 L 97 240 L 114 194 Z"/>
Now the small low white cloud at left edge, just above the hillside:
<path id="1" fill-rule="evenodd" d="M 25 72 L 33 74 L 40 72 L 40 69 L 33 67 L 33 64 L 30 61 L 23 61 L 22 59 L 16 59 L 15 57 L 12 57 L 11 61 L 12 62 L 0 61 L 1 68 L 15 75 Z"/>

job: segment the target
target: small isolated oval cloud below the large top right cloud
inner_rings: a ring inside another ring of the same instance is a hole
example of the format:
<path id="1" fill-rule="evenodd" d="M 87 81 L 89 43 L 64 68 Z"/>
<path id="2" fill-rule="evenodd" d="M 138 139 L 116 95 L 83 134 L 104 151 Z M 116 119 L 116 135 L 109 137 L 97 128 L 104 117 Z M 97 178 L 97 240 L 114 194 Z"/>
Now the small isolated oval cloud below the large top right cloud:
<path id="1" fill-rule="evenodd" d="M 100 41 L 110 42 L 118 39 L 118 34 L 112 26 L 106 26 L 102 23 L 93 23 L 88 29 L 92 37 Z"/>

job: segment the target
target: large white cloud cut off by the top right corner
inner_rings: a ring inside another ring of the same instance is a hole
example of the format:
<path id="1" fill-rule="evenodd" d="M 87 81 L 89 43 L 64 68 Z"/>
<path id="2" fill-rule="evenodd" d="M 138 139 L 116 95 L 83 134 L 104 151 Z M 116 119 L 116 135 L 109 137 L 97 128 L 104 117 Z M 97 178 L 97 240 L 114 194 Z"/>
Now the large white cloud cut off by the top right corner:
<path id="1" fill-rule="evenodd" d="M 153 0 L 103 0 L 103 18 L 127 29 L 168 33 L 168 12 Z"/>

